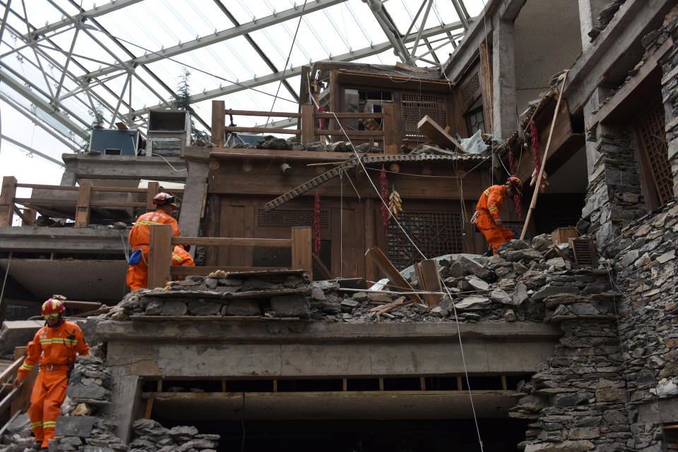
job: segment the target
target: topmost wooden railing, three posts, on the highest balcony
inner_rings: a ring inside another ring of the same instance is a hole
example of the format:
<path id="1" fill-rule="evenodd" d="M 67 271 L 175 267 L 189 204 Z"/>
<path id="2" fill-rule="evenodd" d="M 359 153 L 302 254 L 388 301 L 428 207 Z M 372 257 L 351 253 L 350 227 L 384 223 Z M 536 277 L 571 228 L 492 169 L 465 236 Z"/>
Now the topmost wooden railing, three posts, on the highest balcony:
<path id="1" fill-rule="evenodd" d="M 226 115 L 299 118 L 299 127 L 292 129 L 226 126 Z M 328 123 L 335 128 L 319 128 L 319 119 L 328 120 Z M 316 142 L 322 136 L 329 136 L 331 141 L 345 141 L 344 132 L 336 124 L 337 120 L 341 122 L 345 119 L 381 119 L 382 127 L 379 130 L 350 130 L 344 127 L 344 131 L 351 140 L 377 141 L 383 143 L 384 153 L 398 154 L 396 107 L 393 105 L 384 105 L 383 113 L 316 113 L 313 105 L 302 105 L 301 113 L 281 113 L 275 111 L 225 110 L 225 102 L 215 100 L 212 101 L 212 141 L 218 147 L 224 147 L 227 132 L 297 135 L 302 144 Z"/>

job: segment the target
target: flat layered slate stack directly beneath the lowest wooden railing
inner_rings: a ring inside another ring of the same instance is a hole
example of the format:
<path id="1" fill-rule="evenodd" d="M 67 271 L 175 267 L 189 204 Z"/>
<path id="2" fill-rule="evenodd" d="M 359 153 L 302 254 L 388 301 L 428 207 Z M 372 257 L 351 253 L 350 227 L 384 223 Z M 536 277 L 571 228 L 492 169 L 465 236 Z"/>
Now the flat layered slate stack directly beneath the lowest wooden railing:
<path id="1" fill-rule="evenodd" d="M 134 291 L 108 315 L 116 321 L 142 315 L 306 318 L 310 293 L 303 271 L 221 271 L 170 281 L 163 289 Z"/>

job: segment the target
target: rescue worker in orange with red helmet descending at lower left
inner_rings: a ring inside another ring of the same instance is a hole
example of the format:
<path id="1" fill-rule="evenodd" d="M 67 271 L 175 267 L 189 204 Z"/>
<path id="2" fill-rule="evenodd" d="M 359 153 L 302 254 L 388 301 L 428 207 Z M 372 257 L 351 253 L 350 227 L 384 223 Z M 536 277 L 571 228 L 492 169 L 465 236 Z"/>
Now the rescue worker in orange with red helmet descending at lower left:
<path id="1" fill-rule="evenodd" d="M 57 426 L 61 403 L 66 398 L 76 353 L 85 356 L 90 350 L 83 331 L 78 325 L 66 322 L 64 311 L 64 303 L 54 298 L 42 303 L 40 312 L 46 325 L 28 343 L 28 355 L 13 381 L 13 386 L 19 388 L 35 363 L 40 362 L 40 372 L 30 396 L 28 417 L 35 434 L 36 448 L 42 447 L 43 450 L 47 450 L 49 439 L 54 438 L 54 427 Z"/>

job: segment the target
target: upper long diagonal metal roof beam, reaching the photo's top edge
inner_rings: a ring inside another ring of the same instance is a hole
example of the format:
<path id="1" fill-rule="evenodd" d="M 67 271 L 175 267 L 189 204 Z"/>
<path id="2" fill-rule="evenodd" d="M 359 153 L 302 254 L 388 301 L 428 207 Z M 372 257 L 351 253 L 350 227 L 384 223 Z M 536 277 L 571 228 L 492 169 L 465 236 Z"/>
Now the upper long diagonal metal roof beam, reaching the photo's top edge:
<path id="1" fill-rule="evenodd" d="M 328 8 L 329 6 L 340 4 L 343 1 L 347 0 L 316 0 L 313 2 L 309 2 L 303 14 L 312 13 L 314 11 L 320 11 L 323 8 Z M 227 30 L 222 30 L 220 32 L 215 32 L 213 35 L 199 37 L 198 39 L 194 39 L 189 42 L 182 42 L 182 44 L 178 44 L 173 47 L 167 47 L 167 49 L 154 51 L 148 55 L 139 56 L 137 58 L 125 61 L 124 64 L 128 66 L 133 66 L 136 64 L 153 63 L 154 61 L 160 61 L 167 56 L 175 56 L 183 54 L 184 52 L 187 51 L 200 49 L 201 47 L 206 47 L 210 44 L 215 44 L 215 42 L 222 42 L 227 39 L 231 39 L 232 37 L 242 36 L 245 33 L 251 33 L 256 30 L 261 30 L 261 28 L 266 28 L 269 27 L 270 25 L 275 25 L 277 23 L 283 23 L 286 20 L 298 18 L 299 16 L 302 16 L 301 6 L 297 6 L 296 8 L 290 8 L 285 11 L 281 11 L 280 13 L 275 13 L 274 15 L 266 16 L 265 18 L 254 19 L 250 23 L 240 25 L 239 27 L 229 28 Z M 83 77 L 84 78 L 100 77 L 101 75 L 106 75 L 118 70 L 119 69 L 117 67 L 109 66 L 107 68 L 102 68 L 98 71 L 93 71 L 88 74 L 85 74 Z"/>

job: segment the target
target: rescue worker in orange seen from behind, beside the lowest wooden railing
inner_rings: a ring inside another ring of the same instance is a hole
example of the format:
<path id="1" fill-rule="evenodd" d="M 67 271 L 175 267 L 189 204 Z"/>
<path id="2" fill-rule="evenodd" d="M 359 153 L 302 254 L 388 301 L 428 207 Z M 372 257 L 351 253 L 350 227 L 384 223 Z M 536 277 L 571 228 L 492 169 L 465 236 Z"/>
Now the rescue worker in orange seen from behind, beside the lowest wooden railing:
<path id="1" fill-rule="evenodd" d="M 139 216 L 132 230 L 129 231 L 129 244 L 132 247 L 132 254 L 128 262 L 127 285 L 131 291 L 148 286 L 149 226 L 169 224 L 169 226 L 172 226 L 172 236 L 177 237 L 181 233 L 177 220 L 172 216 L 177 211 L 177 200 L 174 196 L 169 195 L 169 193 L 158 193 L 153 197 L 153 205 L 157 210 Z"/>

